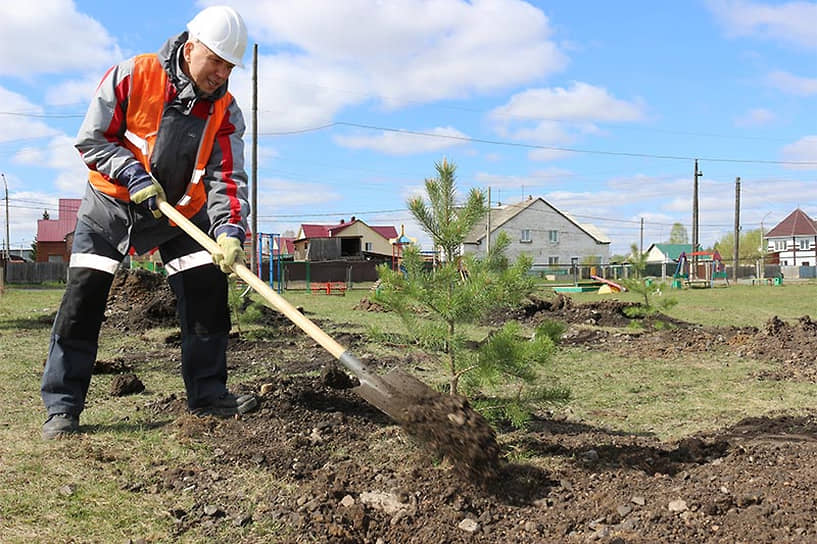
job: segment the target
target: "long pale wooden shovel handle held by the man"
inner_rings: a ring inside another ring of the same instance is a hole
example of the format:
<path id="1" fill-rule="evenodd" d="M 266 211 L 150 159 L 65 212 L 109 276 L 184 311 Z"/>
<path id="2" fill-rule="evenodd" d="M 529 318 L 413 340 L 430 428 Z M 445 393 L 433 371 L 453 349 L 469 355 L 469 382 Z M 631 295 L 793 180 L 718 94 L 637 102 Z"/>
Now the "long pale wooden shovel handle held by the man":
<path id="1" fill-rule="evenodd" d="M 190 235 L 204 247 L 210 254 L 221 253 L 221 248 L 215 240 L 210 238 L 200 228 L 194 225 L 189 219 L 182 215 L 179 210 L 171 206 L 163 199 L 157 199 L 159 210 L 167 216 L 168 219 L 176 223 L 180 229 Z M 249 268 L 241 263 L 236 263 L 233 266 L 233 271 L 236 275 L 247 282 L 247 285 L 252 287 L 256 293 L 264 297 L 273 308 L 284 314 L 287 319 L 300 327 L 310 338 L 315 340 L 318 344 L 331 353 L 336 359 L 340 359 L 341 355 L 346 352 L 346 348 L 338 344 L 334 338 L 323 332 L 317 325 L 309 320 L 304 314 L 298 311 L 292 304 L 284 297 L 276 293 L 269 285 L 261 281 L 261 278 L 253 274 Z"/>

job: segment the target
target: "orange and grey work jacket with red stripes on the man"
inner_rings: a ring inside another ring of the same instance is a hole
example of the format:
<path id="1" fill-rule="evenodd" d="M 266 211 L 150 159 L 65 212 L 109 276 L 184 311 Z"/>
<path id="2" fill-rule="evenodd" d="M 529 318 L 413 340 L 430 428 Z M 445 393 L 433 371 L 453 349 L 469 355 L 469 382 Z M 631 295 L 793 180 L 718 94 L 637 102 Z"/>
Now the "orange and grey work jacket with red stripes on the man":
<path id="1" fill-rule="evenodd" d="M 103 77 L 80 128 L 76 147 L 99 192 L 127 202 L 118 175 L 134 160 L 164 188 L 168 202 L 186 217 L 206 204 L 210 232 L 247 230 L 244 119 L 222 86 L 198 93 L 183 73 L 182 33 L 157 54 L 139 55 Z"/>

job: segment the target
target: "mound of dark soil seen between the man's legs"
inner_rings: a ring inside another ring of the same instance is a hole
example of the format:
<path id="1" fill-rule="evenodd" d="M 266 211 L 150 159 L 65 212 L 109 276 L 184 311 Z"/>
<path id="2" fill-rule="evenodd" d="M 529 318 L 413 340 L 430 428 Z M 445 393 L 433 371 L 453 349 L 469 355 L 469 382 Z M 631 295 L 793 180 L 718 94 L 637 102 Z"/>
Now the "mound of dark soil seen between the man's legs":
<path id="1" fill-rule="evenodd" d="M 176 296 L 164 276 L 120 268 L 111 284 L 104 323 L 120 331 L 172 327 L 178 323 Z"/>

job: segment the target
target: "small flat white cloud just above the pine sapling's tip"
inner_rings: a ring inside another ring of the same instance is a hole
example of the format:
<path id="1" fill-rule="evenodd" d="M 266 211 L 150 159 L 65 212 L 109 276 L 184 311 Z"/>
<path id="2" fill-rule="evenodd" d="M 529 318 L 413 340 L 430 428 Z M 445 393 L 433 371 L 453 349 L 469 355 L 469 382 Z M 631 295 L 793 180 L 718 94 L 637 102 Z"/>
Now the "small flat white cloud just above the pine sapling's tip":
<path id="1" fill-rule="evenodd" d="M 389 155 L 410 155 L 462 145 L 466 143 L 463 139 L 467 138 L 465 134 L 453 127 L 435 127 L 423 133 L 381 132 L 375 136 L 335 136 L 334 140 L 338 145 L 352 149 L 373 149 Z"/>

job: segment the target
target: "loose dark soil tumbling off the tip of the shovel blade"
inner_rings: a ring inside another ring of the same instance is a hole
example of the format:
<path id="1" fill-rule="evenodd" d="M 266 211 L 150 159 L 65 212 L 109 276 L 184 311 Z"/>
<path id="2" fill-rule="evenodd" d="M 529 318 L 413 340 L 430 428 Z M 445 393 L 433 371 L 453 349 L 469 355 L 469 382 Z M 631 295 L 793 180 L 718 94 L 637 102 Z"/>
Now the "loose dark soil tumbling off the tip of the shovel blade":
<path id="1" fill-rule="evenodd" d="M 434 395 L 408 406 L 401 425 L 412 436 L 451 459 L 454 470 L 480 484 L 499 470 L 496 434 L 481 414 L 460 396 Z"/>

